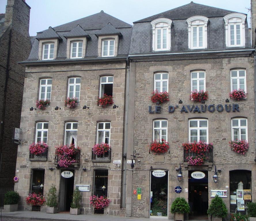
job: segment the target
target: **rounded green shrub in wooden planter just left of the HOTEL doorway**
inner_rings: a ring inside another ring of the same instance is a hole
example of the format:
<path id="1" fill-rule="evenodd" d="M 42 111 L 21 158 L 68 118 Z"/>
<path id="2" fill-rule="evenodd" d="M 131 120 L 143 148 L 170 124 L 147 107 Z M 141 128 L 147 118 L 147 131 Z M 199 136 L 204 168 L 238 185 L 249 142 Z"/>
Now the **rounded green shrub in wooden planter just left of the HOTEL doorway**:
<path id="1" fill-rule="evenodd" d="M 175 220 L 184 220 L 184 213 L 189 213 L 190 207 L 188 202 L 183 197 L 177 197 L 171 206 L 171 213 L 174 213 Z"/>

